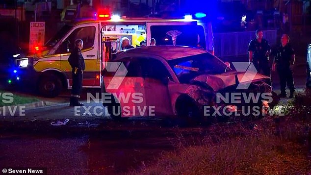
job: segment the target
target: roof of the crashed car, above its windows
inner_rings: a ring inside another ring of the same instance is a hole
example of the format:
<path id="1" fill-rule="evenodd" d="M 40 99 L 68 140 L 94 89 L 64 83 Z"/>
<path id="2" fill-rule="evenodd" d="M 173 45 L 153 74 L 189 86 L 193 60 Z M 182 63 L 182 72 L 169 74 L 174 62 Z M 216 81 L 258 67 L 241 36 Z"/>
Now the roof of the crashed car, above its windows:
<path id="1" fill-rule="evenodd" d="M 160 56 L 166 60 L 173 60 L 202 53 L 207 53 L 207 51 L 185 46 L 148 46 L 122 50 L 117 54 L 116 60 L 129 56 L 129 54 L 149 54 Z"/>

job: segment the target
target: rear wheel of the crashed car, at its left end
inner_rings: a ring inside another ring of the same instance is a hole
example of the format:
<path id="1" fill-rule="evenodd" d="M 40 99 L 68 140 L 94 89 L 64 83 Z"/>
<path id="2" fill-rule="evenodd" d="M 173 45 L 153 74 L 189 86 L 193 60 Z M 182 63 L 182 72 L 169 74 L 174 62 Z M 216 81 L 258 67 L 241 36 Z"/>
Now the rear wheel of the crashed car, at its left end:
<path id="1" fill-rule="evenodd" d="M 103 106 L 107 108 L 108 113 L 110 114 L 110 117 L 114 121 L 126 121 L 127 117 L 121 116 L 121 105 L 119 102 L 117 102 L 113 95 L 111 95 L 111 101 L 108 103 L 103 103 Z"/>

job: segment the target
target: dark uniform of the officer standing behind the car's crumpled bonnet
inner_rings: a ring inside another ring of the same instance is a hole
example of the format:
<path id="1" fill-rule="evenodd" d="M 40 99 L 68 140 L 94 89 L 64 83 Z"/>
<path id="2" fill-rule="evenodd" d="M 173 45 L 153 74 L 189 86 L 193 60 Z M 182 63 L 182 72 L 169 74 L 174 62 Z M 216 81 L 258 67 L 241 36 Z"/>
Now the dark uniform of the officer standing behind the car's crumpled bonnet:
<path id="1" fill-rule="evenodd" d="M 271 70 L 269 66 L 269 60 L 266 56 L 267 50 L 270 50 L 270 45 L 267 40 L 262 39 L 261 43 L 257 39 L 251 40 L 248 45 L 248 51 L 253 51 L 253 64 L 257 71 L 262 71 L 263 75 L 269 76 L 270 80 L 267 81 L 271 85 Z"/>

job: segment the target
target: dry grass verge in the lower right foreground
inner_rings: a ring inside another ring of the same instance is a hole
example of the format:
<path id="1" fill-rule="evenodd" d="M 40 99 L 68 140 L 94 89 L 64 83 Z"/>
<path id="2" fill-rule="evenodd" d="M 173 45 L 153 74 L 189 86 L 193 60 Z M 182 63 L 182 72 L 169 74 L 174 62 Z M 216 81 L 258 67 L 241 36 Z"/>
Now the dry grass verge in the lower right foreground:
<path id="1" fill-rule="evenodd" d="M 198 144 L 179 135 L 175 151 L 129 174 L 310 175 L 310 96 L 298 94 L 286 116 L 266 117 L 252 123 L 256 127 L 213 125 Z"/>

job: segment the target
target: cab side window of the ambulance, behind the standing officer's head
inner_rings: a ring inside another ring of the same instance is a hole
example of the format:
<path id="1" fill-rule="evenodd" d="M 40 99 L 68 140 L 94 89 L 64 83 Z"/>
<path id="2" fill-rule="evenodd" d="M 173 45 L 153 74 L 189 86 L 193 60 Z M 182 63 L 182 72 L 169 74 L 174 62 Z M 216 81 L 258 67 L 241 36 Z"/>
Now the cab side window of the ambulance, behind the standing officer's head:
<path id="1" fill-rule="evenodd" d="M 57 48 L 55 54 L 70 53 L 75 48 L 77 39 L 83 40 L 83 49 L 93 47 L 95 40 L 95 26 L 86 26 L 75 29 Z"/>

